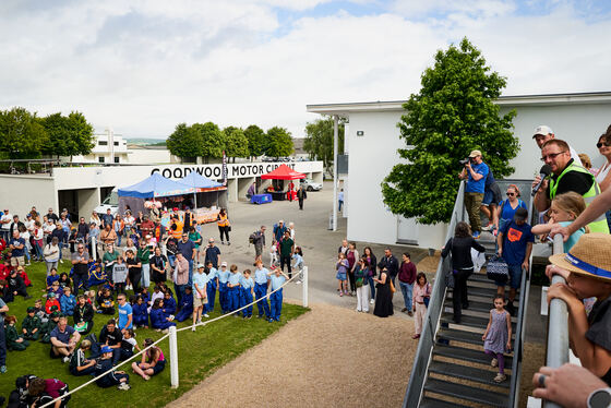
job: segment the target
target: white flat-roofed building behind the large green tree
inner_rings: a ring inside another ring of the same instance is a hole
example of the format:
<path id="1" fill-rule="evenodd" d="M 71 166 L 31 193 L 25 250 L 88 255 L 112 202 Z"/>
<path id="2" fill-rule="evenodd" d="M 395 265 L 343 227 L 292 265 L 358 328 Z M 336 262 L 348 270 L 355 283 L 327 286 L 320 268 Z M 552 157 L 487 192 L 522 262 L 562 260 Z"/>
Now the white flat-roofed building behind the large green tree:
<path id="1" fill-rule="evenodd" d="M 399 139 L 403 100 L 308 105 L 312 113 L 337 115 L 348 119 L 345 149 L 348 177 L 345 179 L 345 209 L 348 239 L 379 243 L 414 243 L 440 248 L 445 225 L 418 225 L 414 219 L 392 214 L 384 205 L 380 184 L 405 143 Z M 532 141 L 535 128 L 547 124 L 555 136 L 567 141 L 578 153 L 586 153 L 595 167 L 603 163 L 596 143 L 611 123 L 611 93 L 504 96 L 496 100 L 504 115 L 517 110 L 514 134 L 522 151 L 512 160 L 514 179 L 532 179 L 541 167 L 540 151 Z M 465 152 L 465 156 L 469 152 Z M 486 160 L 486 157 L 484 157 Z"/>

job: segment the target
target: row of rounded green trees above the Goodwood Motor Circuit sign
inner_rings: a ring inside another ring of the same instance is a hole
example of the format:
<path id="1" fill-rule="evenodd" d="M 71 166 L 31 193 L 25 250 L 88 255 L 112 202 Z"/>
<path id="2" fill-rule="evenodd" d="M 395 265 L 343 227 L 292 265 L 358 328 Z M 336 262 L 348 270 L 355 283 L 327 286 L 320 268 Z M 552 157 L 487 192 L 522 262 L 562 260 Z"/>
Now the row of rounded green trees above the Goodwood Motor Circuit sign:
<path id="1" fill-rule="evenodd" d="M 166 144 L 170 153 L 180 158 L 203 157 L 284 157 L 293 152 L 292 137 L 285 128 L 274 127 L 267 132 L 256 124 L 247 129 L 227 127 L 223 130 L 213 123 L 179 123 Z"/>

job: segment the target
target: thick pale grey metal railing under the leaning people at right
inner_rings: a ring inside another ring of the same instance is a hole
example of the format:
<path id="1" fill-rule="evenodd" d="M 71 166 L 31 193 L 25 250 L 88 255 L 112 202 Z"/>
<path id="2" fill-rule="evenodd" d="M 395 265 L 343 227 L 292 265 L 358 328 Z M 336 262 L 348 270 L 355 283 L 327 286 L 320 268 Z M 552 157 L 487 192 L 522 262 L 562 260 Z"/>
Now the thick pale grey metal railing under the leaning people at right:
<path id="1" fill-rule="evenodd" d="M 556 233 L 553 240 L 553 253 L 563 253 L 563 237 Z M 552 277 L 552 285 L 559 283 L 566 284 L 566 280 L 560 275 L 554 275 Z M 555 369 L 568 362 L 568 309 L 566 302 L 558 298 L 552 299 L 548 317 L 546 365 Z M 560 405 L 543 400 L 543 407 L 553 408 L 560 407 Z"/>

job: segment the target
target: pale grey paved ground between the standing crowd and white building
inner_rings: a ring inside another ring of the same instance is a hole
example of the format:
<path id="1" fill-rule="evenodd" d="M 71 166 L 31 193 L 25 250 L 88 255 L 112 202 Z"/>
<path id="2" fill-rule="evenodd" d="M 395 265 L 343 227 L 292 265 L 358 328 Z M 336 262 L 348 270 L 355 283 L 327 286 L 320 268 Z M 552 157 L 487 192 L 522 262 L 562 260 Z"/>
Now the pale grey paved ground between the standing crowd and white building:
<path id="1" fill-rule="evenodd" d="M 325 182 L 324 189 L 319 192 L 308 193 L 304 209 L 299 211 L 297 201 L 295 202 L 273 202 L 271 204 L 253 205 L 247 202 L 230 203 L 229 219 L 231 220 L 231 245 L 219 245 L 221 259 L 229 264 L 235 263 L 243 271 L 245 267 L 252 268 L 254 260 L 254 247 L 249 245 L 248 237 L 259 229 L 261 225 L 267 227 L 266 240 L 272 242 L 272 226 L 284 219 L 288 225 L 293 221 L 296 225 L 296 243 L 303 250 L 306 264 L 309 266 L 310 274 L 310 302 L 324 302 L 328 304 L 355 308 L 356 298 L 340 298 L 337 292 L 337 280 L 335 279 L 335 261 L 337 259 L 337 248 L 346 237 L 346 219 L 338 219 L 338 230 L 328 230 L 328 218 L 333 202 L 333 184 Z M 205 238 L 214 237 L 217 244 L 219 235 L 216 225 L 206 225 L 203 228 Z M 362 252 L 366 242 L 357 242 L 357 249 Z M 370 244 L 373 253 L 380 259 L 383 254 L 384 245 Z M 400 261 L 400 253 L 406 249 L 415 262 L 422 259 L 427 251 L 418 248 L 396 245 L 392 247 L 393 253 Z M 268 249 L 264 250 L 263 260 L 268 264 Z M 400 311 L 403 298 L 399 293 L 395 296 L 395 309 Z M 286 291 L 285 297 L 301 300 L 301 287 L 291 285 Z"/>

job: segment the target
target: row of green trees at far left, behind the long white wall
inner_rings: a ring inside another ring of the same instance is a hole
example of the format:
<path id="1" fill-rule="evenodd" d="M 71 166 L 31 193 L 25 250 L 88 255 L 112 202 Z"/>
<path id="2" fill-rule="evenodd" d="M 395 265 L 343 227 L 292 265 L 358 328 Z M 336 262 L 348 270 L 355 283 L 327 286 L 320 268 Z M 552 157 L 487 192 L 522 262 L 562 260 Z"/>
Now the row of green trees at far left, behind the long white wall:
<path id="1" fill-rule="evenodd" d="M 94 128 L 79 111 L 39 118 L 22 107 L 0 110 L 0 153 L 4 157 L 86 155 L 94 146 Z"/>

